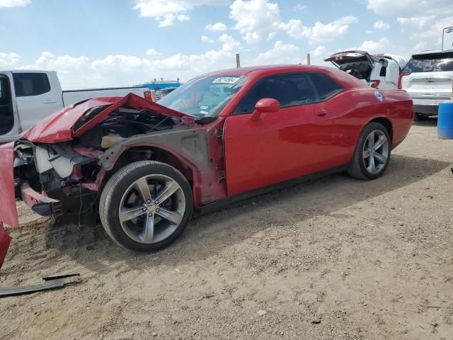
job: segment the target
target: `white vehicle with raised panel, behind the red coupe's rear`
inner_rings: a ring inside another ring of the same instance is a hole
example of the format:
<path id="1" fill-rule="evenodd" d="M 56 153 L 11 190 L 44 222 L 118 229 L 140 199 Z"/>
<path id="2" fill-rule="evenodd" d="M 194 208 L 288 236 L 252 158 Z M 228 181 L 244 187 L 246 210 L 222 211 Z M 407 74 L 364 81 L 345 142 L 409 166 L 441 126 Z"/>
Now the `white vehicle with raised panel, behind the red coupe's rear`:
<path id="1" fill-rule="evenodd" d="M 396 89 L 401 69 L 407 62 L 399 55 L 369 55 L 364 51 L 338 52 L 324 61 L 375 89 Z"/>

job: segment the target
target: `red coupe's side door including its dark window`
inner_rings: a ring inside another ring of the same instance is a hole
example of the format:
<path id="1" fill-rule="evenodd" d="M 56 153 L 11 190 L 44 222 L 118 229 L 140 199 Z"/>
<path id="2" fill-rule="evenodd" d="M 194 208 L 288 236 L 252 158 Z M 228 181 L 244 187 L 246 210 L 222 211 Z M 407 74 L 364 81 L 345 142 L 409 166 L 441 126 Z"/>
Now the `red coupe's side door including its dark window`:
<path id="1" fill-rule="evenodd" d="M 280 101 L 280 111 L 253 121 L 261 98 Z M 309 74 L 267 77 L 243 96 L 224 128 L 229 196 L 326 168 L 333 119 L 320 101 Z"/>

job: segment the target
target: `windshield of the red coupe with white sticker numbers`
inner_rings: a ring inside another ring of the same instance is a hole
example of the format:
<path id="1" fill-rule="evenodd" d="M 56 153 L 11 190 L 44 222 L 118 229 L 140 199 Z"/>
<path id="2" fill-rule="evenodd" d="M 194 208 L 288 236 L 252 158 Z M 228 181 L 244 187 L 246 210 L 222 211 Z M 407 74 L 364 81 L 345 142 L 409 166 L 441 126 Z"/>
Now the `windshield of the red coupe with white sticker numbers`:
<path id="1" fill-rule="evenodd" d="M 246 76 L 195 78 L 162 98 L 159 104 L 197 117 L 215 117 L 246 80 Z"/>

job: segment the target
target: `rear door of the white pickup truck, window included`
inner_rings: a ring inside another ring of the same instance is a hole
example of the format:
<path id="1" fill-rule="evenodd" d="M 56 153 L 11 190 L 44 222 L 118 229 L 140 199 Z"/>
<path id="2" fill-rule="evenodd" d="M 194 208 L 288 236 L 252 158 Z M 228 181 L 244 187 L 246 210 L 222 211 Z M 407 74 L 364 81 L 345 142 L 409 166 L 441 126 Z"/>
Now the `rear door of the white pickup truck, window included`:
<path id="1" fill-rule="evenodd" d="M 13 82 L 22 130 L 62 108 L 59 94 L 45 72 L 13 72 Z"/>

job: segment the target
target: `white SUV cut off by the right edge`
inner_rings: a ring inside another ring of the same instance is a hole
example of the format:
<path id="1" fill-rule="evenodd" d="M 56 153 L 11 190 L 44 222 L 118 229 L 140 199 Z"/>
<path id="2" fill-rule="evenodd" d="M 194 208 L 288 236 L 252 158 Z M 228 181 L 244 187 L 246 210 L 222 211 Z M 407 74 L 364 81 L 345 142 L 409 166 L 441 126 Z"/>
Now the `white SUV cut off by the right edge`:
<path id="1" fill-rule="evenodd" d="M 411 95 L 414 120 L 437 115 L 439 104 L 453 100 L 453 52 L 430 50 L 411 57 L 398 81 Z"/>

